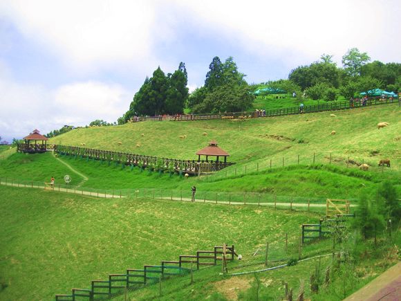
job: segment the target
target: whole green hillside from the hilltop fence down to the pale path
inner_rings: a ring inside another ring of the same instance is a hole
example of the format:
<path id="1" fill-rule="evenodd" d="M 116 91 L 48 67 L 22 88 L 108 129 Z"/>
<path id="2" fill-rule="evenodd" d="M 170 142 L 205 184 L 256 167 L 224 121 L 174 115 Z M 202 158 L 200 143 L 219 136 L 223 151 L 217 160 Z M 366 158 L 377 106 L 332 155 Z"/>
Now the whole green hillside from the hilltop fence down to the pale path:
<path id="1" fill-rule="evenodd" d="M 210 176 L 185 180 L 169 174 L 140 172 L 138 167 L 122 170 L 120 165 L 102 165 L 98 161 L 14 154 L 0 161 L 0 177 L 48 182 L 50 176 L 55 176 L 56 183 L 64 183 L 64 175 L 69 174 L 72 185 L 81 183 L 82 187 L 94 189 L 160 188 L 187 192 L 196 185 L 201 193 L 257 192 L 322 200 L 355 199 L 362 190 L 373 197 L 377 184 L 389 179 L 401 192 L 399 107 L 392 104 L 339 111 L 335 115 L 313 113 L 242 122 L 138 122 L 75 129 L 51 139 L 51 143 L 57 144 L 84 143 L 84 147 L 94 149 L 181 159 L 196 159 L 196 151 L 216 139 L 236 164 Z M 389 122 L 389 127 L 377 129 L 380 121 Z M 330 135 L 332 130 L 335 135 Z M 204 132 L 207 136 L 203 136 Z M 186 139 L 180 138 L 184 135 Z M 380 158 L 390 158 L 391 167 L 378 167 Z M 357 168 L 355 163 L 362 162 L 371 165 L 369 171 Z M 82 182 L 82 175 L 88 181 Z"/>

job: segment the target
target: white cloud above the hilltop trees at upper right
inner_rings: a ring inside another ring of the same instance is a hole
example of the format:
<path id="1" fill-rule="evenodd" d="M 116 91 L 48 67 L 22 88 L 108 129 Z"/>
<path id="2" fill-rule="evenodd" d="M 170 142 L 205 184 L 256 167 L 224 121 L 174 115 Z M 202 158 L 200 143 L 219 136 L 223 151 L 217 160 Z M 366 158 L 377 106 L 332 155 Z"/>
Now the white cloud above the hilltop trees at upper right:
<path id="1" fill-rule="evenodd" d="M 367 51 L 377 60 L 400 60 L 400 4 L 377 0 L 179 1 L 176 3 L 223 36 L 260 56 L 290 64 L 318 60 L 323 53 L 341 57 L 348 48 Z M 398 29 L 397 29 L 398 28 Z M 394 35 L 393 37 L 396 37 Z M 257 60 L 257 59 L 255 59 Z"/>

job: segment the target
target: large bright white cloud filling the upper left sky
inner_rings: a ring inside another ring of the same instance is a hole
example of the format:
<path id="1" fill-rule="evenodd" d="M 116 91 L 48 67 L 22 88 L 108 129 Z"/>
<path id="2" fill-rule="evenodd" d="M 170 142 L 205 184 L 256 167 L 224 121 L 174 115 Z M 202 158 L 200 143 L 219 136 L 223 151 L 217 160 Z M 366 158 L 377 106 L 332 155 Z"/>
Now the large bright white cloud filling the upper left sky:
<path id="1" fill-rule="evenodd" d="M 157 1 L 4 1 L 3 15 L 68 66 L 93 69 L 152 59 Z M 0 12 L 1 14 L 1 12 Z"/>

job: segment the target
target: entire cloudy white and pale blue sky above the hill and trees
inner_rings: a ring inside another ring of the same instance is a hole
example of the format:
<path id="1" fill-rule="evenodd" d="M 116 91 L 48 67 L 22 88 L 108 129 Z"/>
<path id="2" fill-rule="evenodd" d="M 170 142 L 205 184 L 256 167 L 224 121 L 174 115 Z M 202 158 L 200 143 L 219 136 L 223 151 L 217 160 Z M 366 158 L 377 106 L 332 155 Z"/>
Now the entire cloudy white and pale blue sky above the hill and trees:
<path id="1" fill-rule="evenodd" d="M 201 86 L 214 56 L 248 82 L 341 58 L 401 61 L 398 0 L 0 0 L 0 136 L 117 120 L 144 78 L 185 62 Z"/>

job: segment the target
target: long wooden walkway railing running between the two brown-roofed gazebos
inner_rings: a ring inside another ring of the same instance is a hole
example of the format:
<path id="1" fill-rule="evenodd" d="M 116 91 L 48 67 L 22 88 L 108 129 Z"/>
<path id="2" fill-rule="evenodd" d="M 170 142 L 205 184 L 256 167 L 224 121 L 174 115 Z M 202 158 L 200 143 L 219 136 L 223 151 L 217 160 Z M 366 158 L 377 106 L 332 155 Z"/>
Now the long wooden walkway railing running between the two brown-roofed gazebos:
<path id="1" fill-rule="evenodd" d="M 57 154 L 75 156 L 75 158 L 86 158 L 87 160 L 93 159 L 98 161 L 106 161 L 109 162 L 109 164 L 113 162 L 122 165 L 150 168 L 151 170 L 185 172 L 187 174 L 199 174 L 200 172 L 203 172 L 203 170 L 207 170 L 207 172 L 217 172 L 218 170 L 222 170 L 223 168 L 234 164 L 232 162 L 221 161 L 196 161 L 160 158 L 155 156 L 111 152 L 101 149 L 89 149 L 69 145 L 54 145 L 54 151 Z"/>

